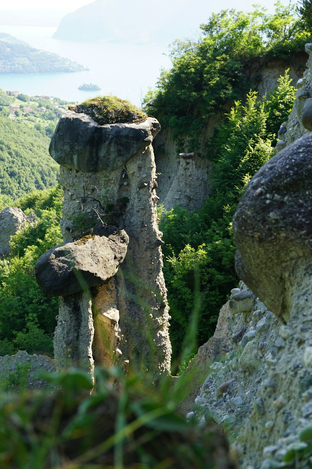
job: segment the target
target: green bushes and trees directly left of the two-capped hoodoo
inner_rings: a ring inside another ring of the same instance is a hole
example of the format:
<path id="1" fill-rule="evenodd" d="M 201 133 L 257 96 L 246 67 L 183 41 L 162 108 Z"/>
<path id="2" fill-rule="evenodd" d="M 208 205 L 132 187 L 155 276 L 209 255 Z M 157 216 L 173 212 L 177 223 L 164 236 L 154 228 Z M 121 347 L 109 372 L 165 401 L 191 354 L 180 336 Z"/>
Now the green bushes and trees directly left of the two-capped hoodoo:
<path id="1" fill-rule="evenodd" d="M 36 212 L 38 223 L 11 237 L 11 256 L 0 260 L 0 353 L 25 349 L 29 354 L 53 353 L 51 334 L 58 298 L 47 297 L 35 278 L 37 259 L 62 242 L 59 187 L 22 197 L 15 205 Z"/>

